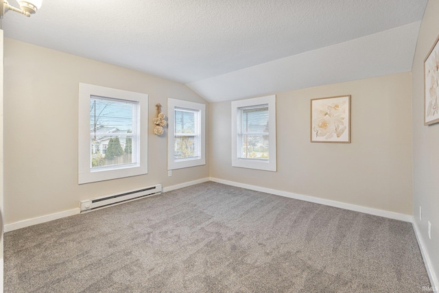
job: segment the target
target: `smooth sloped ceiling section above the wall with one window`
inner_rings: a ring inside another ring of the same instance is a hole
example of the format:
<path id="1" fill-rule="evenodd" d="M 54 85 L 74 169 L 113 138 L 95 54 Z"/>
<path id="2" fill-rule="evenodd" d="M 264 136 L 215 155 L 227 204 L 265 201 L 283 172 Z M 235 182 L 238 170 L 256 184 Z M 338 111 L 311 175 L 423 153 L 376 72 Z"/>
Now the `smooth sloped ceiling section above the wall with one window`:
<path id="1" fill-rule="evenodd" d="M 420 21 L 187 84 L 209 102 L 408 72 Z"/>

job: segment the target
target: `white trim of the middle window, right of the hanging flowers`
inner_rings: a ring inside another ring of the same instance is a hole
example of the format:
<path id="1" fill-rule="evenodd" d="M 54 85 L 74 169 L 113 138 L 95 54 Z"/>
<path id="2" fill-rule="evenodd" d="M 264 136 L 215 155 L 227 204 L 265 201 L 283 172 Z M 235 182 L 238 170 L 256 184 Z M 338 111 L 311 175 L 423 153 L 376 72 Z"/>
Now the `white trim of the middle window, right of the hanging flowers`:
<path id="1" fill-rule="evenodd" d="M 187 108 L 200 111 L 200 156 L 188 159 L 174 159 L 174 131 L 176 108 Z M 206 105 L 183 101 L 181 99 L 167 99 L 168 136 L 167 136 L 167 169 L 181 169 L 206 165 Z"/>

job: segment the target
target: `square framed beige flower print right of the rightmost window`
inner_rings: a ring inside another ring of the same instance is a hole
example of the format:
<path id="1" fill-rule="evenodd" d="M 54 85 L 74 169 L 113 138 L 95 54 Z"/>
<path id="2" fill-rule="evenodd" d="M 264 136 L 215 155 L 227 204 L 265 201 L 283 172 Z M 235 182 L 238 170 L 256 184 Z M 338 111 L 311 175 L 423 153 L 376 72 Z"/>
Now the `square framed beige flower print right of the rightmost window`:
<path id="1" fill-rule="evenodd" d="M 311 143 L 351 143 L 351 95 L 311 99 Z"/>

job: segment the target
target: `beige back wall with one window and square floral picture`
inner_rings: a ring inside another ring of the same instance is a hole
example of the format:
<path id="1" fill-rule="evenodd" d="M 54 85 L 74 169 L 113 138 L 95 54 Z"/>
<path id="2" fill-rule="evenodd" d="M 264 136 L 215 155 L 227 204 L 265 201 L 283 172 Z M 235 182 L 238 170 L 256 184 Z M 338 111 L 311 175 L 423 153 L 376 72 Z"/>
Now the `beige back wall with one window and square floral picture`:
<path id="1" fill-rule="evenodd" d="M 277 172 L 231 167 L 230 102 L 211 104 L 211 177 L 412 214 L 411 75 L 276 93 Z M 352 143 L 310 143 L 310 99 L 352 95 Z"/>

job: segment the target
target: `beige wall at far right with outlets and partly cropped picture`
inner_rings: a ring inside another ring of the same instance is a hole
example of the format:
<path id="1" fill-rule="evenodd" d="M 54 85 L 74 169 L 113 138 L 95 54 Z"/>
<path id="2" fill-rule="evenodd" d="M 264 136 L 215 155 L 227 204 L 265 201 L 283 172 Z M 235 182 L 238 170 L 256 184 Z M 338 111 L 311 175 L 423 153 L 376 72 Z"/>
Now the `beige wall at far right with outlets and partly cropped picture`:
<path id="1" fill-rule="evenodd" d="M 413 96 L 413 197 L 414 220 L 430 265 L 439 273 L 439 124 L 424 126 L 424 59 L 439 35 L 439 1 L 430 0 L 420 25 L 412 68 Z M 423 220 L 419 219 L 419 207 Z M 432 238 L 427 222 L 431 222 Z M 436 283 L 439 286 L 439 283 Z"/>

